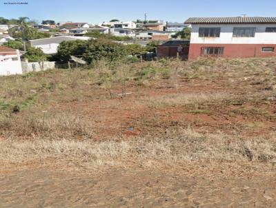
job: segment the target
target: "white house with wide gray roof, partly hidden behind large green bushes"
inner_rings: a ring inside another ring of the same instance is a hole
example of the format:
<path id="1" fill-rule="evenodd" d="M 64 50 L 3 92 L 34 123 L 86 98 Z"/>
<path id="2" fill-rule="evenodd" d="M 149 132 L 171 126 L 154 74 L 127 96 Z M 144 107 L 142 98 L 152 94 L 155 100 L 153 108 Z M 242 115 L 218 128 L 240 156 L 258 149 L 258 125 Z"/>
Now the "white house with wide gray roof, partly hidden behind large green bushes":
<path id="1" fill-rule="evenodd" d="M 30 46 L 34 48 L 41 48 L 45 54 L 56 54 L 59 43 L 62 41 L 75 41 L 82 40 L 87 41 L 90 37 L 75 37 L 75 36 L 59 36 L 47 39 L 30 40 Z"/>

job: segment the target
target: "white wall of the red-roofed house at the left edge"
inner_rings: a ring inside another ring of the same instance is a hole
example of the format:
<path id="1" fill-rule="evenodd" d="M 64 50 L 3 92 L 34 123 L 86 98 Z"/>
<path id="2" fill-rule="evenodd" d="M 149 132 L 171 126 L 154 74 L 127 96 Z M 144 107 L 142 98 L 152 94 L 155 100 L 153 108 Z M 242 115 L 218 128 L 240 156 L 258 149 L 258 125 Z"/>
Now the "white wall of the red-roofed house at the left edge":
<path id="1" fill-rule="evenodd" d="M 12 58 L 17 58 L 17 61 L 12 61 Z M 22 74 L 19 50 L 14 55 L 3 56 L 0 54 L 0 75 L 10 74 Z"/>

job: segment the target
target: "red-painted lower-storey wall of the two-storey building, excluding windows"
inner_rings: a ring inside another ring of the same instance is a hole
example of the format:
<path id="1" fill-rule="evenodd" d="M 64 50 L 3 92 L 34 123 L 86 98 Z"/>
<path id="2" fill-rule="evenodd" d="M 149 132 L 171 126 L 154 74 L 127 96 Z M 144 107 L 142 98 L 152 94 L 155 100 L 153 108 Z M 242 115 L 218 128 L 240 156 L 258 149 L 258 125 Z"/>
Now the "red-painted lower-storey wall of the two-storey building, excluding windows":
<path id="1" fill-rule="evenodd" d="M 190 44 L 188 59 L 197 59 L 201 56 L 204 47 L 224 47 L 224 58 L 248 58 L 248 57 L 268 57 L 276 56 L 275 44 Z M 274 52 L 262 52 L 263 47 L 274 47 Z"/>

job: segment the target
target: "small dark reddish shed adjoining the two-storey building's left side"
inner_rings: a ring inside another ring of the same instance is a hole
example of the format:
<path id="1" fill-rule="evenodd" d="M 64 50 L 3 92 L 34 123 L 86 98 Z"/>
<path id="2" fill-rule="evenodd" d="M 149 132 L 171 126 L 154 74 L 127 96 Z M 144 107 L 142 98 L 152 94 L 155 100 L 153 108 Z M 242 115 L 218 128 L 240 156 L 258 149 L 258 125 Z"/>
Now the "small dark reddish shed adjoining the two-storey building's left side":
<path id="1" fill-rule="evenodd" d="M 160 58 L 177 57 L 187 59 L 189 53 L 190 41 L 187 40 L 171 40 L 157 47 L 157 56 Z"/>

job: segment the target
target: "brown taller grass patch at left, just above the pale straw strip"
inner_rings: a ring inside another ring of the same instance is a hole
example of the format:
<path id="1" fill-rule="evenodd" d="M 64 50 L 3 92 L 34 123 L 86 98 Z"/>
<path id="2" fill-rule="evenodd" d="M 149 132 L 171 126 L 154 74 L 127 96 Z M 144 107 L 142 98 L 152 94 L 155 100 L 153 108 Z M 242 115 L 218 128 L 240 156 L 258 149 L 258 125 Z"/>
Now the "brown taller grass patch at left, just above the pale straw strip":
<path id="1" fill-rule="evenodd" d="M 26 112 L 23 115 L 1 116 L 0 135 L 23 138 L 92 138 L 92 124 L 72 112 Z"/>

